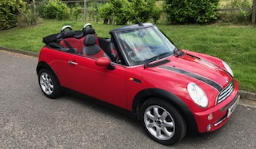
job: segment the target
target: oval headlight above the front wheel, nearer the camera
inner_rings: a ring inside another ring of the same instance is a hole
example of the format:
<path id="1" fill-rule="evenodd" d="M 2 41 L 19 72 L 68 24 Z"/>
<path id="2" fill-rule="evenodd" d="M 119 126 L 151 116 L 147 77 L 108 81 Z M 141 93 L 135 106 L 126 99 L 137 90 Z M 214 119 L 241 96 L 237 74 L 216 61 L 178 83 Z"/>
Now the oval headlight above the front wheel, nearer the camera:
<path id="1" fill-rule="evenodd" d="M 208 106 L 208 98 L 198 85 L 193 82 L 189 83 L 188 91 L 189 96 L 198 106 L 201 106 L 202 108 L 206 108 Z"/>

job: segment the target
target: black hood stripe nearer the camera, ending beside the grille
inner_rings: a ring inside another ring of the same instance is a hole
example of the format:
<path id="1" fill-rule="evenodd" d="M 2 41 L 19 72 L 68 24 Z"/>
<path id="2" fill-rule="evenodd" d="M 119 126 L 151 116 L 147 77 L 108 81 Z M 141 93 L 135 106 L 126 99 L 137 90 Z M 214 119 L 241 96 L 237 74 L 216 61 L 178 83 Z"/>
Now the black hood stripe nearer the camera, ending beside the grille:
<path id="1" fill-rule="evenodd" d="M 181 70 L 181 69 L 177 69 L 175 67 L 170 67 L 170 66 L 160 66 L 160 68 L 163 68 L 163 69 L 167 69 L 167 70 L 170 70 L 170 71 L 173 71 L 173 72 L 177 72 L 177 73 L 180 73 L 180 74 L 184 74 L 184 75 L 187 75 L 189 77 L 193 77 L 197 80 L 201 80 L 203 81 L 204 83 L 207 83 L 209 84 L 210 86 L 214 87 L 215 89 L 217 89 L 219 92 L 223 89 L 218 83 L 212 81 L 212 80 L 209 80 L 205 77 L 202 77 L 198 74 L 194 74 L 192 72 L 187 72 L 185 70 Z"/>

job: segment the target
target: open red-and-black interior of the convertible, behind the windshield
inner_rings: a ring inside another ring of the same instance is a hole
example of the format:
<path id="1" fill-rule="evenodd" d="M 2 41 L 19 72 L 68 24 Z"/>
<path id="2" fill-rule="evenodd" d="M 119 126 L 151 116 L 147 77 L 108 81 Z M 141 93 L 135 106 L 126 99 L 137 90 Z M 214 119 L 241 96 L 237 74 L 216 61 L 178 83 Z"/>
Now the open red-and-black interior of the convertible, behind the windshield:
<path id="1" fill-rule="evenodd" d="M 121 63 L 111 39 L 98 37 L 90 23 L 85 24 L 81 31 L 73 31 L 71 26 L 64 26 L 60 33 L 44 37 L 43 42 L 58 51 L 96 59 L 108 57 L 114 63 Z"/>

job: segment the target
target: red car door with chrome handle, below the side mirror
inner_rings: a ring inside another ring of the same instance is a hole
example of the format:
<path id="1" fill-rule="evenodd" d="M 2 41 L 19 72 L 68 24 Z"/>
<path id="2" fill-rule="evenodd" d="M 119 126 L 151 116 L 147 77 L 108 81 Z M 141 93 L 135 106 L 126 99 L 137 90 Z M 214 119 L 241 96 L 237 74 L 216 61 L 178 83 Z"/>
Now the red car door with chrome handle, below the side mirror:
<path id="1" fill-rule="evenodd" d="M 96 59 L 77 54 L 62 55 L 61 85 L 85 95 L 126 108 L 125 69 L 97 66 Z"/>

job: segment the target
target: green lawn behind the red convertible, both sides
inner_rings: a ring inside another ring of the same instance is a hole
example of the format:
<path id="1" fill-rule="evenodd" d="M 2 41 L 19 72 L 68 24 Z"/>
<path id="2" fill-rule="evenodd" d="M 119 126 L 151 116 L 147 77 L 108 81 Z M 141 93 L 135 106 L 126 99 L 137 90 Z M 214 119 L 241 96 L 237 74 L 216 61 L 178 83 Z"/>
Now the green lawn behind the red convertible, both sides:
<path id="1" fill-rule="evenodd" d="M 28 28 L 0 31 L 0 46 L 39 52 L 42 37 L 58 33 L 64 25 L 81 30 L 84 22 L 44 20 L 44 24 Z M 119 26 L 92 23 L 99 37 Z M 210 54 L 230 64 L 240 89 L 256 92 L 256 28 L 225 25 L 158 25 L 180 48 Z"/>

